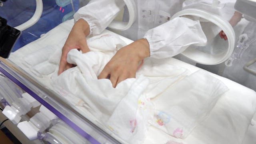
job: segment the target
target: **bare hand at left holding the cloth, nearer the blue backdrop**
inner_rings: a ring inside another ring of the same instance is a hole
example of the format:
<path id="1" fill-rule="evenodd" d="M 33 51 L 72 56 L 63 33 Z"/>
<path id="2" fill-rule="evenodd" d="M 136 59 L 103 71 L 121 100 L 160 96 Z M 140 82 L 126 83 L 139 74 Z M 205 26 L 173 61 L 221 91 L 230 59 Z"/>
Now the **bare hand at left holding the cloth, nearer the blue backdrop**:
<path id="1" fill-rule="evenodd" d="M 88 36 L 89 34 L 90 34 L 89 24 L 85 20 L 79 19 L 74 24 L 62 48 L 62 55 L 60 58 L 58 75 L 72 67 L 72 64 L 68 64 L 67 62 L 67 54 L 71 49 L 76 48 L 78 50 L 81 50 L 82 53 L 86 53 L 90 51 L 86 41 L 86 36 Z"/>

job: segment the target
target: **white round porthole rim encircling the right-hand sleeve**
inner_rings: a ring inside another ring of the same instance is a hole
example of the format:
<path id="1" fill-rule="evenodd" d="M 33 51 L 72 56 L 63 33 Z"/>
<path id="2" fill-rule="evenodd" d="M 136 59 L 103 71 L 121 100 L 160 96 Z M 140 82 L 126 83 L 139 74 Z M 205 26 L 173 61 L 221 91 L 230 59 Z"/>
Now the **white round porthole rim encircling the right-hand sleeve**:
<path id="1" fill-rule="evenodd" d="M 180 16 L 199 20 L 207 38 L 206 45 L 189 46 L 182 52 L 182 55 L 194 62 L 206 65 L 220 64 L 231 56 L 234 50 L 235 33 L 227 20 L 212 12 L 197 8 L 188 8 L 177 12 L 172 19 Z M 221 30 L 226 33 L 227 42 L 218 37 Z"/>

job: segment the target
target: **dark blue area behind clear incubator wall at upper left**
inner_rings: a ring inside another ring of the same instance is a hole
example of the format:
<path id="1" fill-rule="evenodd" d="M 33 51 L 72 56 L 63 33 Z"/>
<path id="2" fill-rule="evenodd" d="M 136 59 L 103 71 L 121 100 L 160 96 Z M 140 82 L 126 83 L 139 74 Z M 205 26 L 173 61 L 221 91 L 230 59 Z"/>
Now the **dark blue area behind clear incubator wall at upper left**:
<path id="1" fill-rule="evenodd" d="M 43 12 L 41 18 L 30 28 L 22 31 L 20 38 L 14 45 L 13 52 L 22 46 L 40 38 L 52 28 L 65 20 L 72 19 L 74 11 L 79 8 L 79 0 L 68 0 L 60 6 L 55 0 L 42 0 Z M 65 5 L 66 4 L 66 5 Z M 7 0 L 2 2 L 0 16 L 7 20 L 9 26 L 18 26 L 29 20 L 36 10 L 35 0 Z"/>

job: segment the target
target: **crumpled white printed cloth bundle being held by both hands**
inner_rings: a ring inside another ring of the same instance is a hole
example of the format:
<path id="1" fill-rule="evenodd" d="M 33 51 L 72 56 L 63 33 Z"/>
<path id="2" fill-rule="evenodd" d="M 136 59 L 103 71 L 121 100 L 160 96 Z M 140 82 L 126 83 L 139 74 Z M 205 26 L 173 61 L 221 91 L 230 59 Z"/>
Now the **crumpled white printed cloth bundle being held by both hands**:
<path id="1" fill-rule="evenodd" d="M 103 42 L 105 38 L 112 40 Z M 110 80 L 98 80 L 97 76 L 118 50 L 118 46 L 122 46 L 122 40 L 115 36 L 98 36 L 94 40 L 95 45 L 90 40 L 88 45 L 95 48 L 98 44 L 100 48 L 106 47 L 108 50 L 85 54 L 76 49 L 71 50 L 67 61 L 77 66 L 66 70 L 60 76 L 52 75 L 53 86 L 60 93 L 72 92 L 83 101 L 81 103 L 80 100 L 72 100 L 77 102 L 75 105 L 82 104 L 97 120 L 126 142 L 141 143 L 146 135 L 148 121 L 153 118 L 153 105 L 146 96 L 154 97 L 163 92 L 184 77 L 186 69 L 145 62 L 136 78 L 126 79 L 113 88 Z"/>

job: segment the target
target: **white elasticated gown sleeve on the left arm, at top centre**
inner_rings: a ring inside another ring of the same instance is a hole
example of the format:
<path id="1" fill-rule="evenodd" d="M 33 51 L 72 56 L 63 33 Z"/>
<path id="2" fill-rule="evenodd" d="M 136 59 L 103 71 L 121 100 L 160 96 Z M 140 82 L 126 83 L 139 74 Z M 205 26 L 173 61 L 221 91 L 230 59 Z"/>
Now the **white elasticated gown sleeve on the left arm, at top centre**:
<path id="1" fill-rule="evenodd" d="M 90 0 L 74 14 L 74 22 L 84 19 L 90 26 L 90 34 L 100 34 L 125 6 L 122 0 Z"/>

